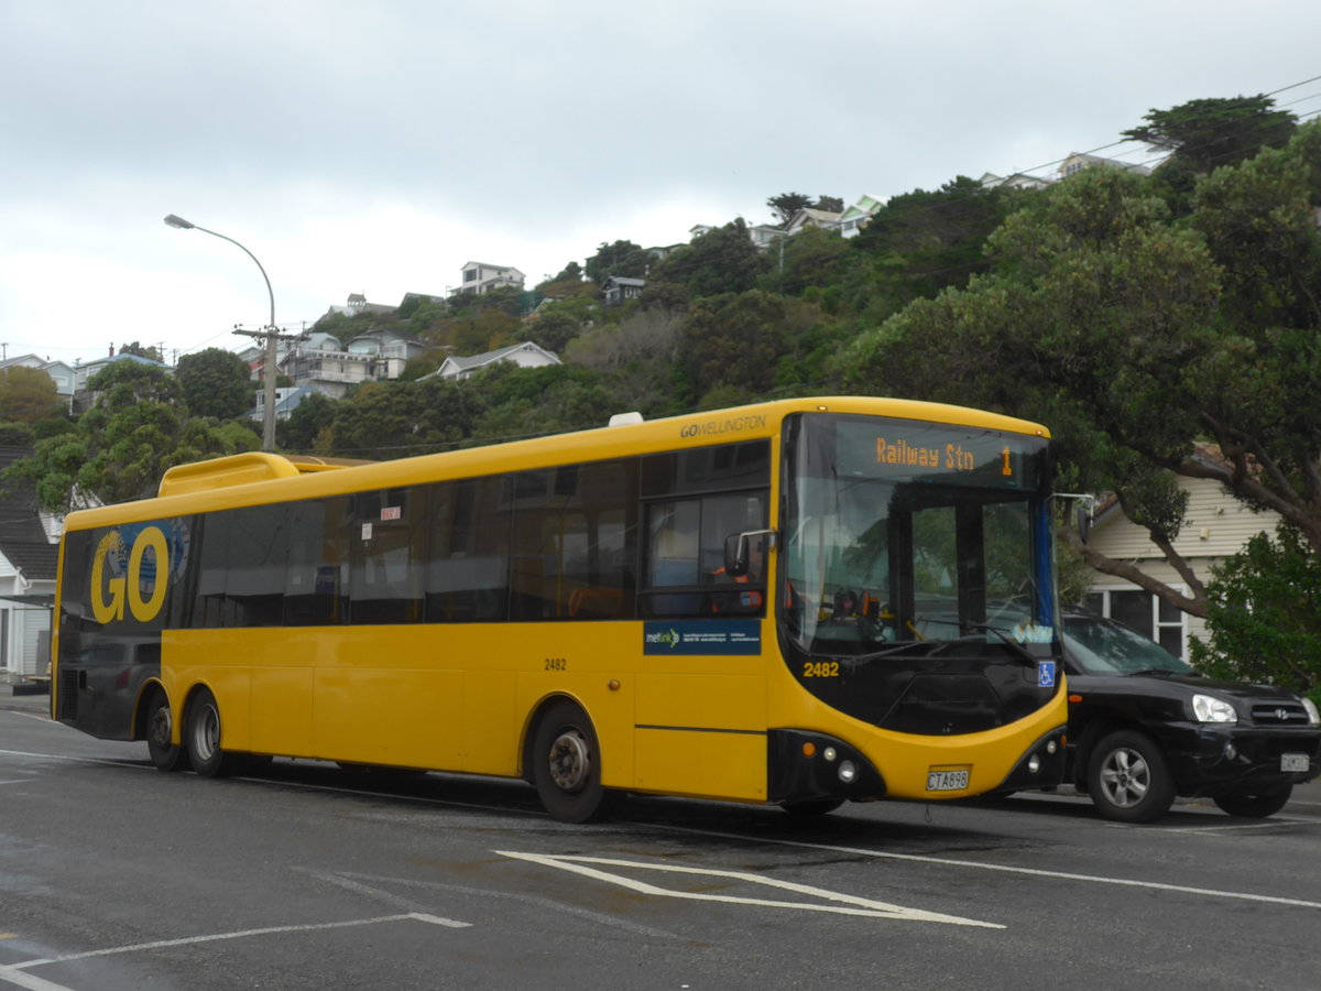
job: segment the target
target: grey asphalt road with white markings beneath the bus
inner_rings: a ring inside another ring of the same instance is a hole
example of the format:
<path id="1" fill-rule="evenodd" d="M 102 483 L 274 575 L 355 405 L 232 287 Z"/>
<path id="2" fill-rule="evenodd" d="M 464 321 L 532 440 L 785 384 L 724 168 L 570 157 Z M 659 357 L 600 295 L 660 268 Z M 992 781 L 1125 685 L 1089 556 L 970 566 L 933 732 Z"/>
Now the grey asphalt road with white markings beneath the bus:
<path id="1" fill-rule="evenodd" d="M 1321 786 L 1153 826 L 1077 797 L 773 809 L 162 774 L 0 696 L 0 991 L 1314 988 Z"/>

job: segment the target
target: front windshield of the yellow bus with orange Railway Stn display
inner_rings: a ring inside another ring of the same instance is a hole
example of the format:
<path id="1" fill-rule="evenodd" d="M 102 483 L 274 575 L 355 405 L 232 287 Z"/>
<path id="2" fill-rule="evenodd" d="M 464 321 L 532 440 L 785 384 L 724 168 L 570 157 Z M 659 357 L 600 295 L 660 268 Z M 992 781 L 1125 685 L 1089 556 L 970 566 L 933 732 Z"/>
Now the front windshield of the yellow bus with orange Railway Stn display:
<path id="1" fill-rule="evenodd" d="M 830 415 L 790 436 L 782 601 L 799 650 L 1052 640 L 1044 440 Z"/>

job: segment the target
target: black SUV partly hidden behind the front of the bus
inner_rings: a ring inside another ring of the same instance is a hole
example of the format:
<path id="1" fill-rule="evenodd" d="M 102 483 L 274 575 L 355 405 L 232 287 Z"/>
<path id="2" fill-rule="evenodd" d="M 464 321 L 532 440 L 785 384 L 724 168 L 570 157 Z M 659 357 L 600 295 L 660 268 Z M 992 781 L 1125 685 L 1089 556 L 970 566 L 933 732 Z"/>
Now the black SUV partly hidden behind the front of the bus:
<path id="1" fill-rule="evenodd" d="M 1174 795 L 1230 815 L 1273 815 L 1321 773 L 1310 699 L 1205 678 L 1137 630 L 1063 616 L 1069 686 L 1065 781 L 1107 819 L 1151 822 Z"/>

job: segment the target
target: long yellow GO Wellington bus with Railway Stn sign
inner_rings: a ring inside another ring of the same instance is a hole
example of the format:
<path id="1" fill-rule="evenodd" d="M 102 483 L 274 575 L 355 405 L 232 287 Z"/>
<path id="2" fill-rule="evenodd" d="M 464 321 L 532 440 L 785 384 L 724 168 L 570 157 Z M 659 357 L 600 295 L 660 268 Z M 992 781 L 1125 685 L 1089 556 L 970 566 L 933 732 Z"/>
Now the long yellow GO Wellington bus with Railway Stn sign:
<path id="1" fill-rule="evenodd" d="M 790 399 L 73 513 L 52 715 L 272 756 L 830 811 L 1059 780 L 1048 431 Z"/>

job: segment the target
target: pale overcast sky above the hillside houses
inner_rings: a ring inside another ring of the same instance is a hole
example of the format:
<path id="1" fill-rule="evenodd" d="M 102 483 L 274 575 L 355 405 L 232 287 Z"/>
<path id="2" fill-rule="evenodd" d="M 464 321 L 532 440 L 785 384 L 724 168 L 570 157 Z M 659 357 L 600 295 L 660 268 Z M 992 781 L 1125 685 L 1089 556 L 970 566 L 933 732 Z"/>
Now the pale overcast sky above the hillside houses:
<path id="1" fill-rule="evenodd" d="M 0 345 L 247 344 L 260 272 L 169 213 L 297 329 L 783 192 L 1046 174 L 1190 99 L 1316 115 L 1318 37 L 1316 0 L 0 0 Z"/>

